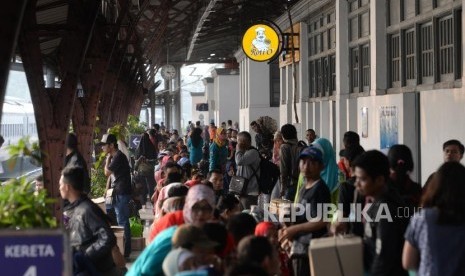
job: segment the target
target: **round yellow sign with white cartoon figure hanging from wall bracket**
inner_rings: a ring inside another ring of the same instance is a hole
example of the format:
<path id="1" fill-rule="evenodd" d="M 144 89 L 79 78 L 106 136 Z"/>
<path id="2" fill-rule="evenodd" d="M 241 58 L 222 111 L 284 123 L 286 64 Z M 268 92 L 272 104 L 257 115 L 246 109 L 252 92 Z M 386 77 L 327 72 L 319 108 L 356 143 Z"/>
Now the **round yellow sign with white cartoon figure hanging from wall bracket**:
<path id="1" fill-rule="evenodd" d="M 270 60 L 279 51 L 279 35 L 267 24 L 253 25 L 242 37 L 242 50 L 252 60 Z"/>

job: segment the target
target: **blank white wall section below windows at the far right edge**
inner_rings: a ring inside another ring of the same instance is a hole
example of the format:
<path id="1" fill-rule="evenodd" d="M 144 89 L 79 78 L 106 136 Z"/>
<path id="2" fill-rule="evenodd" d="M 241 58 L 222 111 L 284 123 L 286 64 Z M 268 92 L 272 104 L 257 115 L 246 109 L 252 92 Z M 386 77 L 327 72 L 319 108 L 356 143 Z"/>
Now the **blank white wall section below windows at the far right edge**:
<path id="1" fill-rule="evenodd" d="M 465 142 L 463 118 L 465 94 L 462 89 L 420 92 L 422 184 L 442 164 L 445 141 Z"/>

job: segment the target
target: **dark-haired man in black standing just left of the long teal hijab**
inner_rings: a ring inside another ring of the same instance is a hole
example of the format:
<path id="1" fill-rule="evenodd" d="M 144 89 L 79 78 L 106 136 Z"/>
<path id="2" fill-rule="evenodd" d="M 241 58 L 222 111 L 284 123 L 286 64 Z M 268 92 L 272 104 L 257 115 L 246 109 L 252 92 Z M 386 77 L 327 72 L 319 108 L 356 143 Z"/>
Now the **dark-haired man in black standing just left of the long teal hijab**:
<path id="1" fill-rule="evenodd" d="M 284 143 L 279 149 L 279 169 L 281 176 L 280 196 L 289 200 L 294 200 L 297 182 L 299 179 L 299 155 L 305 146 L 297 140 L 297 130 L 291 124 L 285 124 L 281 127 Z"/>

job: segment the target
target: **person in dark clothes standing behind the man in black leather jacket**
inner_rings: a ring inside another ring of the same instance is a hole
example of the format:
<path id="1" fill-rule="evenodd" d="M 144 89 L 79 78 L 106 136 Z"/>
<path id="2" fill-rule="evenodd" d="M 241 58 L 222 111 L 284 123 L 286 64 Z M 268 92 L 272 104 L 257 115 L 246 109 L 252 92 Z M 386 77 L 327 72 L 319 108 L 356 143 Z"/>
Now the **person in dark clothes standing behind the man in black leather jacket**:
<path id="1" fill-rule="evenodd" d="M 68 133 L 66 136 L 66 157 L 64 167 L 81 167 L 84 169 L 84 189 L 83 192 L 90 192 L 90 178 L 87 169 L 87 162 L 77 148 L 77 137 L 74 133 Z"/>

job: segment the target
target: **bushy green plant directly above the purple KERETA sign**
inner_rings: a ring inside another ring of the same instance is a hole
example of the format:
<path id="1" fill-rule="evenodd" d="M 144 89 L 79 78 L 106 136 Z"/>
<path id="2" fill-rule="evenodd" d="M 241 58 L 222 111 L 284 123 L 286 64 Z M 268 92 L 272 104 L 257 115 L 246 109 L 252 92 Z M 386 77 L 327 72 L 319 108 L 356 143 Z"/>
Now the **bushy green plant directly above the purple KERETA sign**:
<path id="1" fill-rule="evenodd" d="M 57 221 L 52 214 L 45 189 L 34 193 L 33 183 L 25 177 L 12 179 L 0 187 L 0 228 L 54 228 Z"/>

